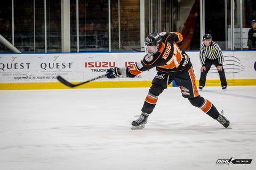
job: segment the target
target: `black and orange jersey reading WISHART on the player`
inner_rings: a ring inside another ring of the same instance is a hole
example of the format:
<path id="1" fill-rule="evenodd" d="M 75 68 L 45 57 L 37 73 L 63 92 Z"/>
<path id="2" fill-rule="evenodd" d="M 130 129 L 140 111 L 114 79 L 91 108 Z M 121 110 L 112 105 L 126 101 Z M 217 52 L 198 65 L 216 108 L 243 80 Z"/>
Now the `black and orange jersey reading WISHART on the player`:
<path id="1" fill-rule="evenodd" d="M 134 77 L 153 67 L 165 74 L 189 70 L 190 58 L 183 49 L 179 48 L 183 40 L 181 33 L 161 32 L 159 35 L 162 37 L 162 42 L 157 53 L 146 55 L 141 62 L 128 66 L 127 77 Z"/>

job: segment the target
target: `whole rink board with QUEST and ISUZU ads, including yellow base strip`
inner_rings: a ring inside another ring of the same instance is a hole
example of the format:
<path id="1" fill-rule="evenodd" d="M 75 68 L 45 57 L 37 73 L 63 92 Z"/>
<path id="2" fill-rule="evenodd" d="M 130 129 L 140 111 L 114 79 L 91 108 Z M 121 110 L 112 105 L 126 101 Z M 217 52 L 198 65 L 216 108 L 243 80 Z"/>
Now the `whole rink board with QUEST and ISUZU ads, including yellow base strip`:
<path id="1" fill-rule="evenodd" d="M 187 52 L 193 63 L 197 85 L 201 63 L 199 52 Z M 256 85 L 256 53 L 254 51 L 224 51 L 223 67 L 228 86 Z M 79 83 L 106 74 L 109 67 L 125 67 L 140 62 L 145 53 L 47 53 L 0 54 L 0 90 L 67 89 L 57 75 L 69 82 Z M 76 88 L 150 87 L 155 69 L 135 78 L 102 78 Z M 175 86 L 175 83 L 170 84 Z M 207 74 L 206 86 L 220 86 L 216 67 Z"/>

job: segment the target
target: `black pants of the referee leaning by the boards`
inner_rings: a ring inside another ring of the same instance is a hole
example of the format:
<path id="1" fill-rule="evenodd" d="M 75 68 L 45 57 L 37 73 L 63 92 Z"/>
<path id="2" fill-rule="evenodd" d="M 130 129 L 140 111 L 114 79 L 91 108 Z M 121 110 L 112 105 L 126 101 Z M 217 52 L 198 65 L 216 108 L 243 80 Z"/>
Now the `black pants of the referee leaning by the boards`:
<path id="1" fill-rule="evenodd" d="M 211 66 L 215 65 L 216 67 L 219 65 L 218 59 L 216 60 L 210 60 L 208 58 L 206 58 L 205 60 L 205 71 L 201 72 L 201 76 L 200 76 L 200 80 L 199 80 L 199 86 L 205 86 L 205 81 L 206 81 L 206 75 L 209 72 L 209 70 L 211 69 Z M 222 66 L 222 70 L 218 71 L 219 76 L 220 76 L 220 82 L 221 82 L 221 87 L 223 86 L 227 86 L 227 80 L 226 80 L 226 76 L 225 76 L 225 71 L 223 69 Z"/>

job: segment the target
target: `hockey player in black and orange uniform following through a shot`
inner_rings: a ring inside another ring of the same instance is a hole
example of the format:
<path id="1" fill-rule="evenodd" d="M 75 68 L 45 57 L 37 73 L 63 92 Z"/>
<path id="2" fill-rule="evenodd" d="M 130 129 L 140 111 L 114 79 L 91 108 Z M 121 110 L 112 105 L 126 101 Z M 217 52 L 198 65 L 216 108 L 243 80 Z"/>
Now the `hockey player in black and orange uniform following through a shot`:
<path id="1" fill-rule="evenodd" d="M 120 75 L 133 78 L 143 71 L 156 67 L 157 74 L 152 81 L 145 99 L 140 117 L 132 122 L 131 129 L 142 129 L 147 123 L 148 116 L 156 106 L 158 96 L 172 82 L 179 86 L 182 96 L 188 98 L 193 106 L 196 106 L 207 115 L 220 122 L 225 128 L 230 128 L 229 121 L 223 112 L 219 114 L 215 106 L 198 94 L 195 75 L 189 56 L 179 46 L 182 43 L 182 35 L 178 32 L 150 33 L 145 39 L 146 56 L 141 62 L 127 67 L 113 67 L 107 71 L 108 78 L 116 78 Z"/>

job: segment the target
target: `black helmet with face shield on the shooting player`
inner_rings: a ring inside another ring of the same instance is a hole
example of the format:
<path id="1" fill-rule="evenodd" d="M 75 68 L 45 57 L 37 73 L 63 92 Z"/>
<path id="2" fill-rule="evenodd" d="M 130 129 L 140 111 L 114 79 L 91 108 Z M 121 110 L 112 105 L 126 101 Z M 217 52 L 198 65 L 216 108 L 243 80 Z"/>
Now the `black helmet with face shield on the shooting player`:
<path id="1" fill-rule="evenodd" d="M 148 37 L 145 39 L 145 52 L 148 55 L 154 55 L 157 52 L 157 45 L 160 44 L 162 41 L 162 37 L 156 33 L 152 32 L 148 35 Z M 153 51 L 148 49 L 148 46 L 155 46 L 155 49 Z"/>

